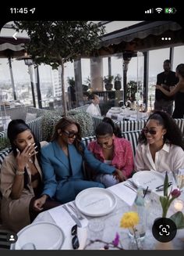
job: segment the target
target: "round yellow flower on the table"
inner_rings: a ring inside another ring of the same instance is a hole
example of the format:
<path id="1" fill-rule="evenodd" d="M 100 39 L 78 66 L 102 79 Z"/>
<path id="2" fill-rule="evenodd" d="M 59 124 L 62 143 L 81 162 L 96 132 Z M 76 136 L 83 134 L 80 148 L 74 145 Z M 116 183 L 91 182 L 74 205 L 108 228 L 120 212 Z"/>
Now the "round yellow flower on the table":
<path id="1" fill-rule="evenodd" d="M 140 221 L 139 215 L 134 211 L 126 212 L 121 219 L 121 228 L 133 228 Z"/>

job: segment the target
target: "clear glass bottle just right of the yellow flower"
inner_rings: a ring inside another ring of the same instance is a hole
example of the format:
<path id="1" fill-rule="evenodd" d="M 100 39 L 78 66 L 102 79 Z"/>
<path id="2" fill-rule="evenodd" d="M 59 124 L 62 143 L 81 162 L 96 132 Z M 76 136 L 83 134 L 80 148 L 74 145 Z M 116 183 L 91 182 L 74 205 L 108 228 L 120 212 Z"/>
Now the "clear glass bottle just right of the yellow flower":
<path id="1" fill-rule="evenodd" d="M 147 224 L 147 210 L 143 198 L 143 188 L 137 189 L 136 199 L 133 202 L 132 211 L 136 211 L 139 215 L 140 221 L 135 226 L 136 238 L 143 240 L 146 235 L 146 224 Z M 129 236 L 133 236 L 133 230 L 129 230 Z"/>

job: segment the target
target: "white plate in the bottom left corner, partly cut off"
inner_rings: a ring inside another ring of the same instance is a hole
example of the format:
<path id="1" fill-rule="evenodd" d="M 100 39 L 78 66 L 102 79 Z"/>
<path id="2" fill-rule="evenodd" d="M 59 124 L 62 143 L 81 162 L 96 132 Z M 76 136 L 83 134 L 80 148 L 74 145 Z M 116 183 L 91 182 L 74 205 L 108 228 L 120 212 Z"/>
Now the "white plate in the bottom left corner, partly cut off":
<path id="1" fill-rule="evenodd" d="M 26 243 L 34 243 L 36 250 L 58 250 L 65 240 L 58 225 L 51 222 L 36 222 L 27 225 L 17 233 L 15 250 L 21 250 Z"/>

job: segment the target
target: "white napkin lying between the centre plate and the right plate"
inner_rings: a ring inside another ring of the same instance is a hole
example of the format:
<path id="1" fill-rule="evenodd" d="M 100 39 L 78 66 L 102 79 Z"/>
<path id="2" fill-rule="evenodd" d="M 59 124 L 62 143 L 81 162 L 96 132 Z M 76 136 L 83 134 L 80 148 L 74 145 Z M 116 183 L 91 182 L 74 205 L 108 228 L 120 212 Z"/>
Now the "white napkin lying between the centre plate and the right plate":
<path id="1" fill-rule="evenodd" d="M 125 186 L 125 184 L 126 182 L 120 182 L 115 186 L 110 186 L 108 189 L 111 190 L 111 192 L 118 196 L 121 200 L 126 202 L 126 204 L 131 206 L 133 205 L 133 202 L 136 198 L 136 192 L 132 189 L 129 189 L 127 186 Z"/>

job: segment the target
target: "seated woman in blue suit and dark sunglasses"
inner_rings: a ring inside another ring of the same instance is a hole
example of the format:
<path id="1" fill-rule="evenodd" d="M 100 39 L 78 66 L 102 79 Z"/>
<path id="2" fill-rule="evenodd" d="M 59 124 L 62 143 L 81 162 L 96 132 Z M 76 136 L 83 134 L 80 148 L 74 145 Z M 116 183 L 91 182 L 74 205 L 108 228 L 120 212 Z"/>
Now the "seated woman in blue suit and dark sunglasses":
<path id="1" fill-rule="evenodd" d="M 51 142 L 41 149 L 41 165 L 44 173 L 42 194 L 55 197 L 65 204 L 75 200 L 76 195 L 83 189 L 103 188 L 104 185 L 100 182 L 85 180 L 83 160 L 97 173 L 115 175 L 122 181 L 121 171 L 97 160 L 83 145 L 80 124 L 63 117 L 55 126 Z M 43 204 L 43 198 L 35 201 L 35 207 L 42 207 Z"/>

